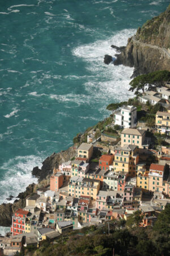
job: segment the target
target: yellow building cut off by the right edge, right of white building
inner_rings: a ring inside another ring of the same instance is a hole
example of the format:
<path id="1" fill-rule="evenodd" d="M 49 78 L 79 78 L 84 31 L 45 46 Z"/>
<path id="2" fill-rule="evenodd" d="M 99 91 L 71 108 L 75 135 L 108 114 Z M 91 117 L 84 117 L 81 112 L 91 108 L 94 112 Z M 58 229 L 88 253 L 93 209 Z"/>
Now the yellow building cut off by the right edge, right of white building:
<path id="1" fill-rule="evenodd" d="M 170 134 L 170 109 L 168 112 L 156 113 L 155 128 L 158 133 Z"/>

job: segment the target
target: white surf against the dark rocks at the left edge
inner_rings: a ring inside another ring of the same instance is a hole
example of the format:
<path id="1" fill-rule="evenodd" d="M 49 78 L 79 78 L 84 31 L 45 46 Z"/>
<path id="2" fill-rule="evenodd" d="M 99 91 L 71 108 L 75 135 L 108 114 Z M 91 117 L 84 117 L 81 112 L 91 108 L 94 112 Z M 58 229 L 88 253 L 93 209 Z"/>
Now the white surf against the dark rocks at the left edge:
<path id="1" fill-rule="evenodd" d="M 23 192 L 24 189 L 31 183 L 37 183 L 36 177 L 32 177 L 31 171 L 35 166 L 41 167 L 43 156 L 17 156 L 8 160 L 1 166 L 1 170 L 5 170 L 5 175 L 0 181 L 0 204 L 7 203 L 7 197 L 10 195 L 18 196 L 18 193 Z M 7 187 L 7 189 L 6 189 Z M 10 202 L 15 200 L 11 200 Z"/>

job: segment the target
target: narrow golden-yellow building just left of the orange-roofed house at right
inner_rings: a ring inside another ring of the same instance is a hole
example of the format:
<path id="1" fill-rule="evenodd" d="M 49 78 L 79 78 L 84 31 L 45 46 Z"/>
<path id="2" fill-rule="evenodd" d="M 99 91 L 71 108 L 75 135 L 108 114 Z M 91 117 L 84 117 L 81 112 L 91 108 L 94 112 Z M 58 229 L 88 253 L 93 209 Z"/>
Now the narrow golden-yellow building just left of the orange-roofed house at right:
<path id="1" fill-rule="evenodd" d="M 149 189 L 149 176 L 148 171 L 145 169 L 141 169 L 138 171 L 137 174 L 137 187 L 143 188 L 143 189 Z"/>

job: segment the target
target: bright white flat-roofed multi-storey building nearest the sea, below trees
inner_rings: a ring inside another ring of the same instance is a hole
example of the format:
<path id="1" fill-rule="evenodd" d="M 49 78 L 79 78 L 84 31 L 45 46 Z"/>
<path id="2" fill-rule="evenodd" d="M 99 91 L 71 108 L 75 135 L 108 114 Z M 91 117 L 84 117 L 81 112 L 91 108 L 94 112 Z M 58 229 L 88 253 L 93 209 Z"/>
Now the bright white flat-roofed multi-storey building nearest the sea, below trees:
<path id="1" fill-rule="evenodd" d="M 137 126 L 137 108 L 124 106 L 114 113 L 114 125 L 124 128 L 135 128 Z"/>

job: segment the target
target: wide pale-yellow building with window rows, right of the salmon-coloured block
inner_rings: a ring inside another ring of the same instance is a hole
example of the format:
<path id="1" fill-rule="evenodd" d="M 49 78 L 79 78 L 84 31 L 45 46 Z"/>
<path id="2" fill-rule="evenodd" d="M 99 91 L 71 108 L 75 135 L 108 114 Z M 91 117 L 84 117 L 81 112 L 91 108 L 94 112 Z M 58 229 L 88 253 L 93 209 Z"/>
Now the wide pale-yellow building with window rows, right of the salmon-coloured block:
<path id="1" fill-rule="evenodd" d="M 96 200 L 96 195 L 100 189 L 100 180 L 86 177 L 73 176 L 68 184 L 69 195 L 74 197 L 88 196 L 91 200 Z"/>

